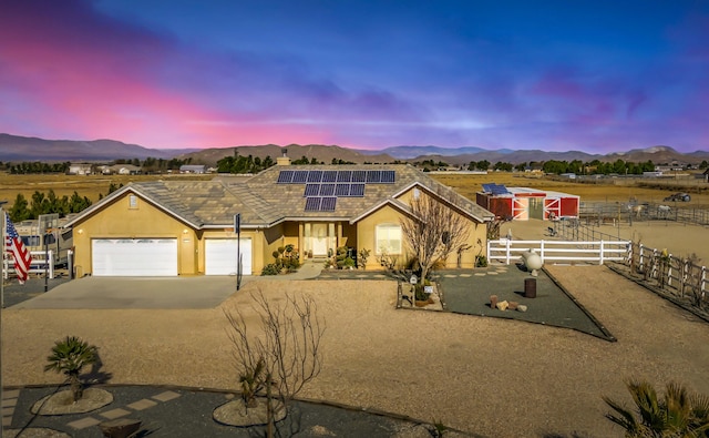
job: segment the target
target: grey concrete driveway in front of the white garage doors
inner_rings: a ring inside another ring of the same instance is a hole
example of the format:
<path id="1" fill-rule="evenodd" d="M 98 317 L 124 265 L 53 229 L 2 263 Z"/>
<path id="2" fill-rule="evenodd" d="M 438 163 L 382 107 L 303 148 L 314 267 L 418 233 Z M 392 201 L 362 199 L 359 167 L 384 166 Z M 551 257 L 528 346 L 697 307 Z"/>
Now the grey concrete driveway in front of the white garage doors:
<path id="1" fill-rule="evenodd" d="M 235 276 L 84 277 L 11 308 L 213 308 L 235 292 Z"/>

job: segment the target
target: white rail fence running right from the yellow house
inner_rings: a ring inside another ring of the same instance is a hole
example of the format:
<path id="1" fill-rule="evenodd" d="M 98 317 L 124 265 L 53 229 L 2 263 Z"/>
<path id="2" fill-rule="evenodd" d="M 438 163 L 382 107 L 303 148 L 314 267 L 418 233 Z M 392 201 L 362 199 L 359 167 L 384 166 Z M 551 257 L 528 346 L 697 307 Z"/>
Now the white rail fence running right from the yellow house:
<path id="1" fill-rule="evenodd" d="M 593 263 L 623 262 L 628 254 L 628 241 L 487 241 L 487 259 L 505 264 L 516 262 L 530 249 L 534 249 L 542 263 Z"/>

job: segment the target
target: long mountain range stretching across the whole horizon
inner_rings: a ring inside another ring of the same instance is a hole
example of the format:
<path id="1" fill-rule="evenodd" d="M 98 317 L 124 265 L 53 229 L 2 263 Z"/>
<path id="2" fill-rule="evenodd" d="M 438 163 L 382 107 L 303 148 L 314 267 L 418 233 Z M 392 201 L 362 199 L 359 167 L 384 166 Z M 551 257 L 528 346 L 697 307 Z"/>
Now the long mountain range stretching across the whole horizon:
<path id="1" fill-rule="evenodd" d="M 439 146 L 415 146 L 403 145 L 387 147 L 380 151 L 357 150 L 341 147 L 337 145 L 290 144 L 278 146 L 276 144 L 266 145 L 243 145 L 233 147 L 209 147 L 209 149 L 148 149 L 137 144 L 126 144 L 115 140 L 44 140 L 38 137 L 19 136 L 0 133 L 0 161 L 1 162 L 110 162 L 114 160 L 132 160 L 146 157 L 155 159 L 192 159 L 193 164 L 216 165 L 216 162 L 226 156 L 253 155 L 260 159 L 267 155 L 271 159 L 286 153 L 290 159 L 296 160 L 301 156 L 315 157 L 317 161 L 331 163 L 332 160 L 342 160 L 353 163 L 390 163 L 393 161 L 415 162 L 422 160 L 433 160 L 451 165 L 466 165 L 471 161 L 477 162 L 486 160 L 491 163 L 499 161 L 512 164 L 528 163 L 532 161 L 543 162 L 549 160 L 589 162 L 598 160 L 613 162 L 616 160 L 629 162 L 653 161 L 655 164 L 678 163 L 699 164 L 703 160 L 709 160 L 709 151 L 697 151 L 692 153 L 681 153 L 670 146 L 651 146 L 645 149 L 634 149 L 627 152 L 614 152 L 610 154 L 589 154 L 582 151 L 547 152 L 501 149 L 490 151 L 482 147 L 439 147 Z"/>

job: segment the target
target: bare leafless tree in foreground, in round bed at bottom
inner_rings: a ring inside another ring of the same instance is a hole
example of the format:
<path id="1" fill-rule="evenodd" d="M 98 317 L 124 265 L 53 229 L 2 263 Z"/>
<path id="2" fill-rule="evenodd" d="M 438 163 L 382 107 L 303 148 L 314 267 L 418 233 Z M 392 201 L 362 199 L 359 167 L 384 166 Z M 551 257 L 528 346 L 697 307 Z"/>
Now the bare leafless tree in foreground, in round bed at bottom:
<path id="1" fill-rule="evenodd" d="M 225 310 L 225 316 L 245 406 L 256 406 L 256 394 L 266 390 L 267 436 L 273 437 L 278 414 L 274 400 L 287 410 L 288 403 L 320 374 L 325 322 L 317 315 L 315 299 L 307 295 L 286 294 L 282 305 L 269 303 L 260 289 L 251 298 L 258 324 L 249 326 L 240 309 Z"/>

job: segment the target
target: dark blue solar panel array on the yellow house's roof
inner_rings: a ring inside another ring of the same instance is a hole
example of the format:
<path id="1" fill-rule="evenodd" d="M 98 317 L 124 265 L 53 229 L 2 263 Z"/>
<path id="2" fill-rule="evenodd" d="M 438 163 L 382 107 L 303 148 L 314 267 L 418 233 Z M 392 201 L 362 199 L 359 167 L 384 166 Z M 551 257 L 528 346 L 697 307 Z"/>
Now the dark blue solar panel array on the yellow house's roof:
<path id="1" fill-rule="evenodd" d="M 306 212 L 332 212 L 338 197 L 363 197 L 367 184 L 393 184 L 389 170 L 318 171 L 284 170 L 278 184 L 305 184 Z"/>

